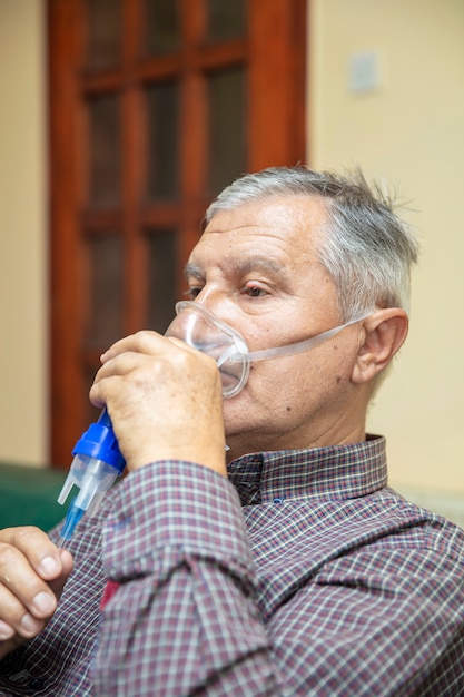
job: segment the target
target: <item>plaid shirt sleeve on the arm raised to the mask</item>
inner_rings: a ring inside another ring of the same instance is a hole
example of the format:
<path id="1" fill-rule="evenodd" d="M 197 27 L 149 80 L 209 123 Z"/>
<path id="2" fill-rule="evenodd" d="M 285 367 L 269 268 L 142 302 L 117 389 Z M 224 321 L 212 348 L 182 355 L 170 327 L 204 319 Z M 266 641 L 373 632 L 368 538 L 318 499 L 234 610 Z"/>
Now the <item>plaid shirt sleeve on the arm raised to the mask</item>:
<path id="1" fill-rule="evenodd" d="M 189 462 L 131 473 L 103 529 L 103 565 L 120 586 L 102 612 L 95 695 L 278 694 L 227 479 Z"/>

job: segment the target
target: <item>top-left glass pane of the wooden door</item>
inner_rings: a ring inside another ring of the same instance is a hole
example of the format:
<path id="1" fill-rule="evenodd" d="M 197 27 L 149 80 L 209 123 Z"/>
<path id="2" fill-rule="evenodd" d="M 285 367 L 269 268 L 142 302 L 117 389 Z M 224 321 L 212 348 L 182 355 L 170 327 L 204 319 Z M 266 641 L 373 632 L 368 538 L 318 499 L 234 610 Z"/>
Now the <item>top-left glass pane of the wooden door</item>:
<path id="1" fill-rule="evenodd" d="M 117 65 L 121 46 L 121 0 L 87 0 L 87 12 L 89 67 Z"/>

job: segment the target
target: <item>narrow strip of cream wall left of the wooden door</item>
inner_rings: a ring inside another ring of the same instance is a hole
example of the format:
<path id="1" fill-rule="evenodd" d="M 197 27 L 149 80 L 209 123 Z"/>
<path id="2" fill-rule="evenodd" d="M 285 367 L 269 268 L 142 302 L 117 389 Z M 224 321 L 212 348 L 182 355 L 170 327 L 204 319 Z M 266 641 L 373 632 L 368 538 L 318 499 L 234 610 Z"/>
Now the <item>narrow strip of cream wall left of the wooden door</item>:
<path id="1" fill-rule="evenodd" d="M 47 459 L 45 4 L 0 0 L 0 460 Z"/>

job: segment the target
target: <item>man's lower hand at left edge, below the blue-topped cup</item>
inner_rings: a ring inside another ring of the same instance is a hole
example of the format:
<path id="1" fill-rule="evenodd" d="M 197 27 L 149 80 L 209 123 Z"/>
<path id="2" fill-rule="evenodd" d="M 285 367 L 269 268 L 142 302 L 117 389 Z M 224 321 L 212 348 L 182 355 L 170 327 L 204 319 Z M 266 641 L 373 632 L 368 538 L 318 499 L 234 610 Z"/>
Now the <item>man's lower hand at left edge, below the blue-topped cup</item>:
<path id="1" fill-rule="evenodd" d="M 0 531 L 0 659 L 52 617 L 72 557 L 31 526 Z"/>

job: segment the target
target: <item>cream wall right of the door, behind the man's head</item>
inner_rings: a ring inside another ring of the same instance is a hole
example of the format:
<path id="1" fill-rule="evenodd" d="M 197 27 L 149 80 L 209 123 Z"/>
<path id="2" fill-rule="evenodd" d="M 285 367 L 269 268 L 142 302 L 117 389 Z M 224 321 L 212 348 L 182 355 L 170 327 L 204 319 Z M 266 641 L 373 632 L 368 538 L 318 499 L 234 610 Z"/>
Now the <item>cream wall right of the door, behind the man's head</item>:
<path id="1" fill-rule="evenodd" d="M 388 438 L 392 484 L 464 493 L 464 2 L 312 0 L 310 157 L 359 163 L 396 185 L 422 242 L 412 325 L 369 429 Z M 378 87 L 349 89 L 374 51 Z"/>

